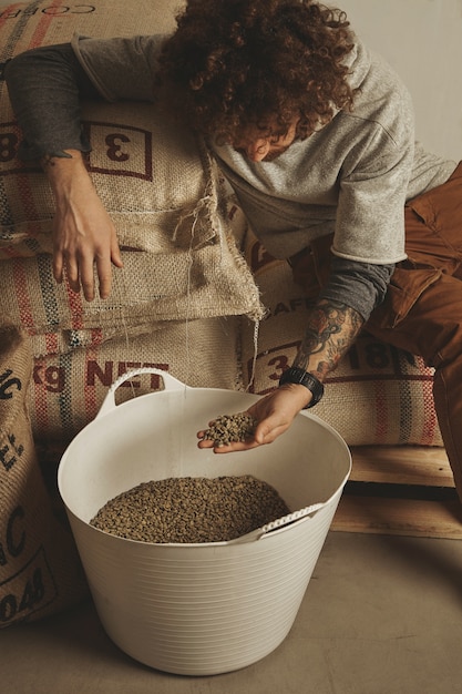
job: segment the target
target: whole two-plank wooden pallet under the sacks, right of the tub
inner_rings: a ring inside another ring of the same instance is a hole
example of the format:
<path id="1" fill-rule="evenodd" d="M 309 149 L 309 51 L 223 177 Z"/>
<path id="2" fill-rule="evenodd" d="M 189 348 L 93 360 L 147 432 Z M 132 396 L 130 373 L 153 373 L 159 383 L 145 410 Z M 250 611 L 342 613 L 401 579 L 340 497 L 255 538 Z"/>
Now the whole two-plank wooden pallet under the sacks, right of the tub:
<path id="1" fill-rule="evenodd" d="M 460 503 L 444 449 L 362 446 L 331 529 L 462 539 Z"/>

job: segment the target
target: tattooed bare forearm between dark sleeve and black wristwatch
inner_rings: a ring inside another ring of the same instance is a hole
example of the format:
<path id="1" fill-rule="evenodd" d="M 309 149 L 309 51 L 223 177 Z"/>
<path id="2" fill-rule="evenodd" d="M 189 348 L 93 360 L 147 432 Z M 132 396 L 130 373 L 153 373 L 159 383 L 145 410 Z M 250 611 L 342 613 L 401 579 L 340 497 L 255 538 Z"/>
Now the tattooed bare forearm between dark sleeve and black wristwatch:
<path id="1" fill-rule="evenodd" d="M 338 302 L 319 300 L 310 315 L 294 366 L 322 380 L 351 347 L 362 325 L 363 318 L 353 308 Z"/>

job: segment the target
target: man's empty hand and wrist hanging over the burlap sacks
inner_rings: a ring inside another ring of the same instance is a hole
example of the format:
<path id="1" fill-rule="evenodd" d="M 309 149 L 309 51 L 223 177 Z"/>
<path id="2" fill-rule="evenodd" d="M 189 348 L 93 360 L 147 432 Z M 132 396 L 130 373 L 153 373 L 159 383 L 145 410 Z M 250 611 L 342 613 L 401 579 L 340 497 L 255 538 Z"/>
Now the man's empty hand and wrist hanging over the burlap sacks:
<path id="1" fill-rule="evenodd" d="M 66 151 L 71 157 L 47 160 L 45 173 L 57 204 L 53 221 L 53 275 L 58 283 L 64 274 L 69 286 L 82 288 L 88 302 L 95 297 L 94 266 L 101 298 L 111 293 L 112 264 L 122 267 L 115 227 L 86 171 L 81 152 Z"/>

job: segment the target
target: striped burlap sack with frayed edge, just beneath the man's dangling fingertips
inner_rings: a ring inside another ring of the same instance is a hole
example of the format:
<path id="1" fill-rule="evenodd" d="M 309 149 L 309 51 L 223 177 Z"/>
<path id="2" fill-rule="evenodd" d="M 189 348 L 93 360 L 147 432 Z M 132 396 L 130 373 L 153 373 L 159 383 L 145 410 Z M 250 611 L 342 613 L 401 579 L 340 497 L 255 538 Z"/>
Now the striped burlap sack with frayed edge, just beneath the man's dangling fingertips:
<path id="1" fill-rule="evenodd" d="M 135 335 L 142 326 L 162 320 L 261 315 L 258 289 L 237 249 L 229 273 L 222 271 L 230 256 L 218 246 L 197 249 L 193 264 L 188 254 L 181 253 L 165 254 L 162 262 L 150 253 L 127 252 L 122 257 L 124 269 L 114 273 L 111 297 L 91 304 L 64 284 L 55 284 L 51 255 L 3 261 L 2 310 L 34 338 L 35 355 L 49 354 L 82 331 L 86 331 L 83 341 L 91 343 L 94 336 L 88 331 L 93 329 L 107 339 L 114 328 Z"/>

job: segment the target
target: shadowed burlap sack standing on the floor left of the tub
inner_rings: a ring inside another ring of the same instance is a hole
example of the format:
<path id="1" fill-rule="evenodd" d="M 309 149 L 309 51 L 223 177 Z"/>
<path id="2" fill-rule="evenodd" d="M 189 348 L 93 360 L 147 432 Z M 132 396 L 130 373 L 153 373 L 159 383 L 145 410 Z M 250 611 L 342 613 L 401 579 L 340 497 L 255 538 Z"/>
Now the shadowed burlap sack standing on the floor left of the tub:
<path id="1" fill-rule="evenodd" d="M 82 600 L 88 588 L 63 518 L 54 512 L 28 415 L 29 341 L 0 326 L 0 627 Z"/>

